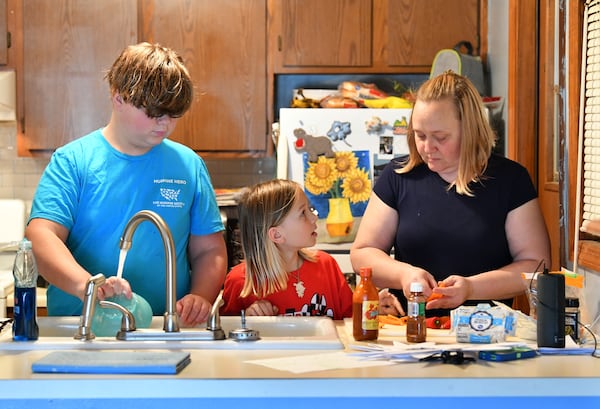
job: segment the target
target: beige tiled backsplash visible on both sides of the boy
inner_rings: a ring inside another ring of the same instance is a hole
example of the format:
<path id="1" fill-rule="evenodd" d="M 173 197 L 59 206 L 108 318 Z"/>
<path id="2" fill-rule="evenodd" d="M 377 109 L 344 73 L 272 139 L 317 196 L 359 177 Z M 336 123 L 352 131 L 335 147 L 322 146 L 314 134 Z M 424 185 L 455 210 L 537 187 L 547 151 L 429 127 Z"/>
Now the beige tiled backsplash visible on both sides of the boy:
<path id="1" fill-rule="evenodd" d="M 48 159 L 17 156 L 14 122 L 0 122 L 0 198 L 31 200 Z M 213 185 L 249 186 L 275 177 L 274 158 L 205 159 Z"/>

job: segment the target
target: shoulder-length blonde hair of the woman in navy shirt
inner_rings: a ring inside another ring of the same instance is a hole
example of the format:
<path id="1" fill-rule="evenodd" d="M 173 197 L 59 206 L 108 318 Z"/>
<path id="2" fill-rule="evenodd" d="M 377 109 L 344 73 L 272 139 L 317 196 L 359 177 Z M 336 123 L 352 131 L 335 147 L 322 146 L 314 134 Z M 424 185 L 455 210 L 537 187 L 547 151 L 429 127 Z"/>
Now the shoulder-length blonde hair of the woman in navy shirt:
<path id="1" fill-rule="evenodd" d="M 481 181 L 492 149 L 496 145 L 496 135 L 486 117 L 479 92 L 466 77 L 446 71 L 425 81 L 415 95 L 415 103 L 441 100 L 451 100 L 454 103 L 461 131 L 458 173 L 448 189 L 456 186 L 458 194 L 473 196 L 469 184 Z M 409 158 L 403 168 L 396 170 L 398 173 L 410 172 L 424 163 L 417 151 L 412 115 L 407 138 Z"/>

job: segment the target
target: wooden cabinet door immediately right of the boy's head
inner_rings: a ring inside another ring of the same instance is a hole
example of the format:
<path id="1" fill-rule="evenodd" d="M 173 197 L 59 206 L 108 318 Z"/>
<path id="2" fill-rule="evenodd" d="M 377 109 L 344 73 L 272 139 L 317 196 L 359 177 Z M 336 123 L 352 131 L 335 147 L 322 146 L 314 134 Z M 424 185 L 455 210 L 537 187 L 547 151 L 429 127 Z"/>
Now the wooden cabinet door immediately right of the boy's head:
<path id="1" fill-rule="evenodd" d="M 195 98 L 173 139 L 198 152 L 267 148 L 266 0 L 142 0 L 146 41 L 177 50 Z"/>

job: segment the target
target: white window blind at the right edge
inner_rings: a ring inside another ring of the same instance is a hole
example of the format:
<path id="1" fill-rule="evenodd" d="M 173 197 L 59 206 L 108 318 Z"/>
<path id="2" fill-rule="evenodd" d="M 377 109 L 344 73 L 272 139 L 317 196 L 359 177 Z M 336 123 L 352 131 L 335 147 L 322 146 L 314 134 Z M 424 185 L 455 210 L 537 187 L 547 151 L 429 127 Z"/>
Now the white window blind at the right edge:
<path id="1" fill-rule="evenodd" d="M 600 0 L 588 0 L 580 230 L 600 237 Z"/>

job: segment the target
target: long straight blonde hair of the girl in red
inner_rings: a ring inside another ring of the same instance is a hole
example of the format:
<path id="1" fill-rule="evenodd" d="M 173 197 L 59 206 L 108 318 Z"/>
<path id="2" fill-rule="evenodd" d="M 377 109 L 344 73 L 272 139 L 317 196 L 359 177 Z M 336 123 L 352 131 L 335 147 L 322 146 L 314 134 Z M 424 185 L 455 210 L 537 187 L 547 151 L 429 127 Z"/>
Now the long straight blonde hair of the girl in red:
<path id="1" fill-rule="evenodd" d="M 288 272 L 277 245 L 269 239 L 269 229 L 279 226 L 302 194 L 296 182 L 274 179 L 259 183 L 242 194 L 238 205 L 239 225 L 246 261 L 246 281 L 240 294 L 265 297 L 287 288 Z M 304 260 L 314 261 L 314 253 L 298 251 Z"/>

